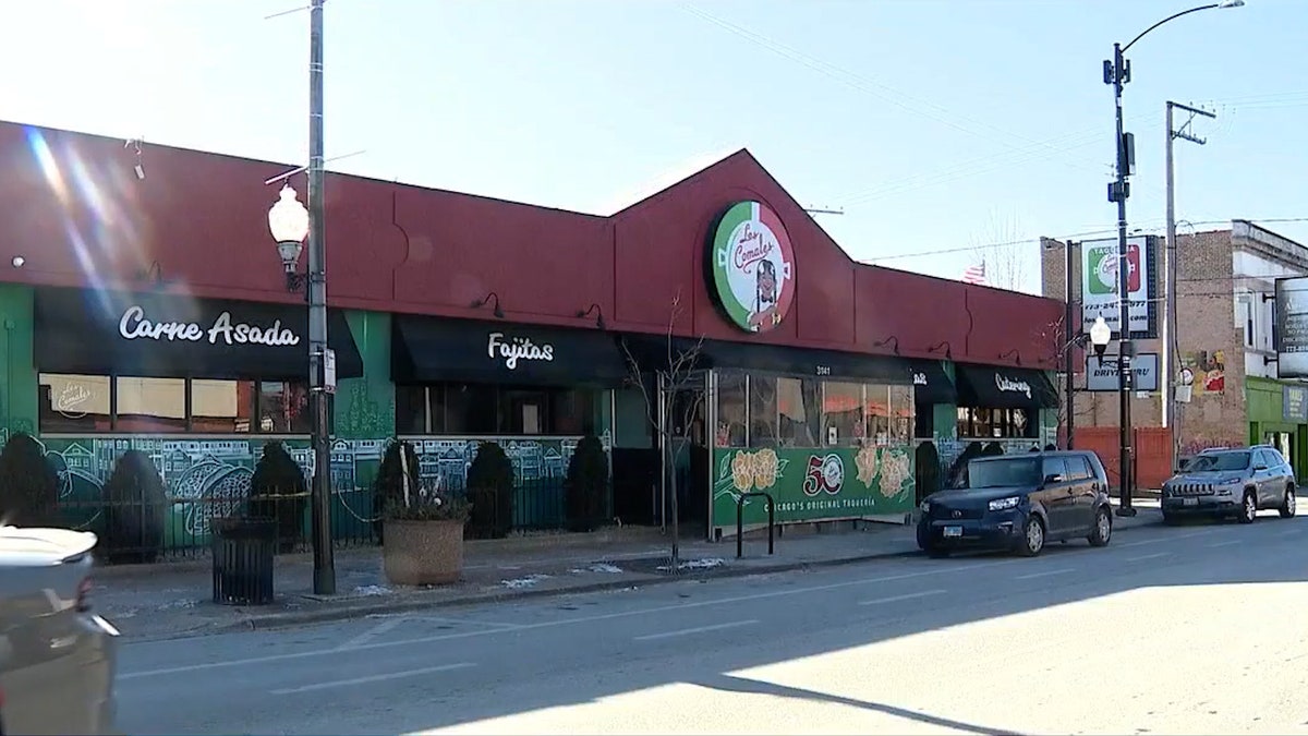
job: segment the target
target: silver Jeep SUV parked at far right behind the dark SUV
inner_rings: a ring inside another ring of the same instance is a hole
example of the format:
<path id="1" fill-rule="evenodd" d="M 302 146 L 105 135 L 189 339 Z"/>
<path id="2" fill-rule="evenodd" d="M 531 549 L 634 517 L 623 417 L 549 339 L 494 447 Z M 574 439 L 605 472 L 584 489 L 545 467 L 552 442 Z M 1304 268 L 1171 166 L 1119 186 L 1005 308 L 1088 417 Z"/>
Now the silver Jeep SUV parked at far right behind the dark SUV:
<path id="1" fill-rule="evenodd" d="M 1163 483 L 1165 524 L 1190 515 L 1252 524 L 1265 508 L 1295 515 L 1295 471 L 1271 445 L 1203 451 Z"/>

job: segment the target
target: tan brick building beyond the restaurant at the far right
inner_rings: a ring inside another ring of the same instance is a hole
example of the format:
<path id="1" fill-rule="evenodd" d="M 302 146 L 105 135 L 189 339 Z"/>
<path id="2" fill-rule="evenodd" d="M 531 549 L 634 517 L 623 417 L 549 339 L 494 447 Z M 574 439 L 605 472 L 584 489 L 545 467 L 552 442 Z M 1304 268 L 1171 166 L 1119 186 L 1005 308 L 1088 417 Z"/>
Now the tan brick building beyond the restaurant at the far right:
<path id="1" fill-rule="evenodd" d="M 1042 293 L 1062 300 L 1066 244 L 1042 238 L 1041 245 Z M 1179 371 L 1171 377 L 1173 384 L 1180 378 L 1192 386 L 1190 401 L 1177 397 L 1169 428 L 1163 430 L 1162 392 L 1133 396 L 1131 426 L 1141 430 L 1137 435 L 1139 486 L 1155 486 L 1159 473 L 1171 468 L 1173 431 L 1175 447 L 1182 456 L 1206 447 L 1270 443 L 1282 449 L 1301 478 L 1308 475 L 1308 419 L 1298 415 L 1303 402 L 1291 402 L 1287 393 L 1305 389 L 1300 381 L 1278 378 L 1273 299 L 1275 279 L 1308 274 L 1308 248 L 1244 220 L 1233 220 L 1230 228 L 1219 230 L 1180 232 L 1176 248 L 1177 320 L 1172 339 L 1176 347 L 1173 365 Z M 1162 287 L 1163 238 L 1158 238 L 1158 250 L 1156 285 Z M 1083 288 L 1079 255 L 1073 253 L 1071 274 L 1071 299 L 1078 320 Z M 1159 326 L 1164 295 L 1162 288 L 1148 295 L 1158 304 Z M 1114 340 L 1109 346 L 1110 359 L 1116 344 Z M 1163 354 L 1158 338 L 1137 339 L 1135 344 L 1138 355 Z M 1117 394 L 1086 390 L 1086 351 L 1074 352 L 1075 441 L 1082 447 L 1095 444 L 1096 449 L 1107 444 L 1101 454 L 1116 465 Z M 1168 373 L 1160 369 L 1159 381 Z M 1062 380 L 1058 386 L 1063 393 Z"/>

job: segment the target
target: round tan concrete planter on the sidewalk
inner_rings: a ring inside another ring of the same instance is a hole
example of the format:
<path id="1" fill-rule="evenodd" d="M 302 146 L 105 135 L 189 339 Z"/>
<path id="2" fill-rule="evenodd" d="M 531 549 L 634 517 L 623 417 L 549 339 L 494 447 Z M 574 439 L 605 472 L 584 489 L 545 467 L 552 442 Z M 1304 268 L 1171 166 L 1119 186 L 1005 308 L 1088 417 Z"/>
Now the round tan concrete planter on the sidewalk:
<path id="1" fill-rule="evenodd" d="M 462 521 L 385 521 L 382 567 L 398 585 L 458 583 L 463 574 Z"/>

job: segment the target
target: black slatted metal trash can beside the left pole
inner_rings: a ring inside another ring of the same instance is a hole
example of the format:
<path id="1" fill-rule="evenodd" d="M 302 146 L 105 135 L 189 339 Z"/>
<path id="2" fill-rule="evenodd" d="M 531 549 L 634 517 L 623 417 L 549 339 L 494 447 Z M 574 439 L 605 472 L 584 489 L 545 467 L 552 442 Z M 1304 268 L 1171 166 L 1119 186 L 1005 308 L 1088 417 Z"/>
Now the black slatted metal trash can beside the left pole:
<path id="1" fill-rule="evenodd" d="M 272 561 L 277 523 L 264 517 L 220 517 L 213 530 L 213 602 L 268 605 L 272 602 Z"/>

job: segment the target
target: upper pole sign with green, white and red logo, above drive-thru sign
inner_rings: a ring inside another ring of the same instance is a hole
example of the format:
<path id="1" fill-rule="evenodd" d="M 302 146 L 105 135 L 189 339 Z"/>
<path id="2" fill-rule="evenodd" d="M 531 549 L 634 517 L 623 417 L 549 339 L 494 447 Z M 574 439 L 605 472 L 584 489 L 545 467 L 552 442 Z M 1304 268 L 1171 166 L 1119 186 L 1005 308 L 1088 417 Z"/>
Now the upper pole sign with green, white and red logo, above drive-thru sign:
<path id="1" fill-rule="evenodd" d="M 1117 238 L 1091 240 L 1080 244 L 1080 310 L 1083 331 L 1090 331 L 1096 317 L 1103 317 L 1121 335 L 1117 300 Z M 1129 300 L 1130 337 L 1158 337 L 1158 238 L 1126 238 L 1126 296 Z"/>

